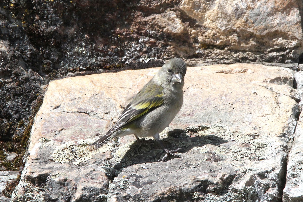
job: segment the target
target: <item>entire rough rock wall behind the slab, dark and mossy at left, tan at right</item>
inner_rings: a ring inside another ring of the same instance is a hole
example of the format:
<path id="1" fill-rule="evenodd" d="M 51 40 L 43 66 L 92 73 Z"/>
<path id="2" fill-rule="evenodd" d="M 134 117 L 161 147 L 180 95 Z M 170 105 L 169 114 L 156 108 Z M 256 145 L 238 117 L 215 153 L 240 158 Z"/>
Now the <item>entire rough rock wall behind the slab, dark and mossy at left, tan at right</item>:
<path id="1" fill-rule="evenodd" d="M 44 84 L 66 76 L 161 66 L 174 56 L 191 66 L 257 61 L 301 70 L 302 7 L 297 0 L 0 1 L 0 141 L 25 148 Z"/>

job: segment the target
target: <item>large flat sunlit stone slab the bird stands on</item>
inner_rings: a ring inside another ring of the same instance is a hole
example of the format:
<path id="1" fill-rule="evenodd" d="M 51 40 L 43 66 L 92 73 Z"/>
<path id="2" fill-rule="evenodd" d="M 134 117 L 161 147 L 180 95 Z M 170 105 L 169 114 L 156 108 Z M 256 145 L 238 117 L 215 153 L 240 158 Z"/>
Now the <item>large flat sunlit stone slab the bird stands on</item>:
<path id="1" fill-rule="evenodd" d="M 52 81 L 12 201 L 281 201 L 301 98 L 286 68 L 189 67 L 183 107 L 161 134 L 180 159 L 158 163 L 161 147 L 132 135 L 88 146 L 156 71 Z"/>

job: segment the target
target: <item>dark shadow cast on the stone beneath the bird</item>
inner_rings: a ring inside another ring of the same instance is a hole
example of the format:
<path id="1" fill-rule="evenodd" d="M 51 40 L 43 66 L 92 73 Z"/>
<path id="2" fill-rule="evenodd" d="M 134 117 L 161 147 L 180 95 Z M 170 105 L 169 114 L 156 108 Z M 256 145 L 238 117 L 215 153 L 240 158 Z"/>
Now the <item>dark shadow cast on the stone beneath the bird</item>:
<path id="1" fill-rule="evenodd" d="M 174 150 L 181 147 L 182 149 L 178 151 L 178 153 L 186 153 L 194 147 L 203 147 L 205 144 L 220 145 L 228 142 L 215 134 L 202 136 L 193 134 L 189 137 L 184 130 L 180 129 L 169 131 L 168 137 L 163 138 L 160 141 L 168 150 Z M 157 162 L 164 154 L 163 149 L 157 141 L 153 139 L 145 140 L 143 138 L 141 139 L 141 143 L 138 141 L 133 142 L 119 163 L 114 167 L 115 169 L 120 170 L 123 167 L 134 164 Z M 170 159 L 168 159 L 168 161 L 169 160 Z"/>

